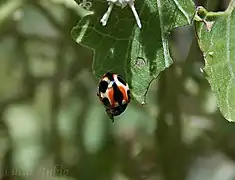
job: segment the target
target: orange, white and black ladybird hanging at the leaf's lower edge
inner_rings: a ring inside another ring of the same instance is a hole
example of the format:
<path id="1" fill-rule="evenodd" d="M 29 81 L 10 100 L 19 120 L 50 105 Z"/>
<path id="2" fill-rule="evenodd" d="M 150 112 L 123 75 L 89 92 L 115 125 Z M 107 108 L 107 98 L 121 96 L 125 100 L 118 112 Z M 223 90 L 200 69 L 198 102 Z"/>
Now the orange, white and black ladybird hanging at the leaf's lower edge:
<path id="1" fill-rule="evenodd" d="M 131 99 L 128 84 L 119 74 L 111 72 L 107 72 L 101 77 L 97 96 L 112 122 L 114 122 L 114 116 L 118 116 L 126 110 Z"/>

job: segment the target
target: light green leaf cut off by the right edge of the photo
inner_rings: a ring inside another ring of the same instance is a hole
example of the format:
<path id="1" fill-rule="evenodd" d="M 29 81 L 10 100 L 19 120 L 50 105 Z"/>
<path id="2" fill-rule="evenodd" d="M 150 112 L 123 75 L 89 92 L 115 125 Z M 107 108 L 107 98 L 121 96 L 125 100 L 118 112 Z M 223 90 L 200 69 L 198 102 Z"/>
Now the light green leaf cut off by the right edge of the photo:
<path id="1" fill-rule="evenodd" d="M 224 12 L 199 7 L 195 18 L 198 43 L 205 59 L 203 71 L 218 106 L 228 121 L 235 121 L 235 0 Z"/>

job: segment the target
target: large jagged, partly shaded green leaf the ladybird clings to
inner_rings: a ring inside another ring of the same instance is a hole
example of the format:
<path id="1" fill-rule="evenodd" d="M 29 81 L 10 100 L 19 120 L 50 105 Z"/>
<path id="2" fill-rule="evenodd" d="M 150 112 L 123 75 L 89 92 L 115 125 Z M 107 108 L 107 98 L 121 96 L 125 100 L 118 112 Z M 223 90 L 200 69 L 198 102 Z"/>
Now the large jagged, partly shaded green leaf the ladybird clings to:
<path id="1" fill-rule="evenodd" d="M 108 70 L 128 81 L 134 98 L 145 103 L 151 81 L 172 64 L 168 35 L 176 27 L 191 23 L 195 11 L 191 0 L 137 0 L 135 8 L 142 28 L 136 25 L 129 6 L 114 6 L 106 26 L 100 19 L 106 1 L 92 1 L 90 14 L 72 29 L 77 43 L 94 50 L 93 71 L 99 78 Z"/>

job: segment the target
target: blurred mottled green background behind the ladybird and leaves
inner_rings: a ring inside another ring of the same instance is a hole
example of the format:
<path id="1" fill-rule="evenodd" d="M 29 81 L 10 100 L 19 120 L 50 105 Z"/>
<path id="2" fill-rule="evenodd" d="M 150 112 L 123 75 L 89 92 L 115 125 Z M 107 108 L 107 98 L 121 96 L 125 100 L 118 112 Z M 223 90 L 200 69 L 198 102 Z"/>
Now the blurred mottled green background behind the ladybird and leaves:
<path id="1" fill-rule="evenodd" d="M 112 124 L 92 52 L 70 36 L 78 21 L 73 0 L 0 1 L 0 179 L 235 180 L 235 125 L 200 73 L 193 27 L 171 34 L 174 65 L 147 104 L 133 101 Z"/>

